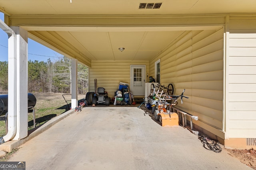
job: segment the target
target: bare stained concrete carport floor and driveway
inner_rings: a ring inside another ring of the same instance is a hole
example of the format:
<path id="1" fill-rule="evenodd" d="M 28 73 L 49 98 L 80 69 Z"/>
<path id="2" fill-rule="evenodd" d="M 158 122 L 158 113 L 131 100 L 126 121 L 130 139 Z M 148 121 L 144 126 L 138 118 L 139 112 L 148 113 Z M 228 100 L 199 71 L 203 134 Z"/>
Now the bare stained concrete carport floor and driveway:
<path id="1" fill-rule="evenodd" d="M 204 149 L 183 127 L 162 127 L 137 107 L 85 107 L 30 139 L 8 161 L 27 170 L 251 170 Z"/>

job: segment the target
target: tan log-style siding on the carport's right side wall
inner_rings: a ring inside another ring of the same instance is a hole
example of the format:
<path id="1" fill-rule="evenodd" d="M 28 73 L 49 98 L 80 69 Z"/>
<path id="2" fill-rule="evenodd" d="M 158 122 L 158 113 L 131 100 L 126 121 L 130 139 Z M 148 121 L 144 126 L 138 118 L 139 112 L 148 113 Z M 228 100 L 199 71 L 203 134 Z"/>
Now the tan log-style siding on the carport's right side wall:
<path id="1" fill-rule="evenodd" d="M 161 84 L 174 85 L 174 94 L 186 89 L 180 109 L 198 116 L 194 123 L 224 139 L 223 29 L 184 31 L 161 59 Z M 150 66 L 156 61 L 150 61 Z M 150 74 L 153 69 L 150 69 Z"/>

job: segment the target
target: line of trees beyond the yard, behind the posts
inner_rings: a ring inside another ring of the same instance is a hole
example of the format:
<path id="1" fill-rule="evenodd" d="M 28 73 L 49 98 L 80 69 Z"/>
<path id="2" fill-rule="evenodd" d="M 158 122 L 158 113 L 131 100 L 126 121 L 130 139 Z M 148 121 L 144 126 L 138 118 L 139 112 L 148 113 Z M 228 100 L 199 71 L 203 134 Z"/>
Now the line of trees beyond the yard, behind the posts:
<path id="1" fill-rule="evenodd" d="M 71 59 L 28 61 L 28 92 L 70 93 Z M 8 62 L 0 61 L 0 92 L 8 91 Z M 78 94 L 88 91 L 88 68 L 78 63 Z"/>

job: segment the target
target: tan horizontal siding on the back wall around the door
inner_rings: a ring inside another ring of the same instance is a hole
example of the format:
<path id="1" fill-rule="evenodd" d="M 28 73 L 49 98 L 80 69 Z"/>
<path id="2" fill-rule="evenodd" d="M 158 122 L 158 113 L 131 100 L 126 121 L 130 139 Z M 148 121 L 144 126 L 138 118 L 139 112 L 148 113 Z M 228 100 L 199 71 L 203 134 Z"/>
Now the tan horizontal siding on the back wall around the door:
<path id="1" fill-rule="evenodd" d="M 149 61 L 92 61 L 89 91 L 94 92 L 94 79 L 97 78 L 97 88 L 104 87 L 108 96 L 114 97 L 120 82 L 130 84 L 130 65 L 146 65 L 147 73 Z"/>

